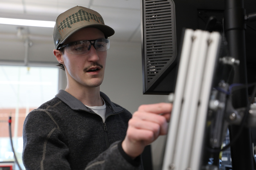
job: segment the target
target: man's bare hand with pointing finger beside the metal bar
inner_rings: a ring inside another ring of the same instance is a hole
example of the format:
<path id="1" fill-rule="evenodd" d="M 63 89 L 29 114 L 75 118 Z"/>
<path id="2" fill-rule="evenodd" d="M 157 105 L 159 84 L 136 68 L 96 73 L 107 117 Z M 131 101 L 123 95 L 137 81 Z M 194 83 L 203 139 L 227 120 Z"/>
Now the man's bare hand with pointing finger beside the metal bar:
<path id="1" fill-rule="evenodd" d="M 144 147 L 160 135 L 166 135 L 172 104 L 157 103 L 141 105 L 128 122 L 128 129 L 122 148 L 131 158 L 139 156 Z"/>

